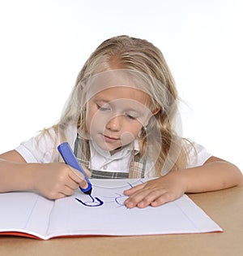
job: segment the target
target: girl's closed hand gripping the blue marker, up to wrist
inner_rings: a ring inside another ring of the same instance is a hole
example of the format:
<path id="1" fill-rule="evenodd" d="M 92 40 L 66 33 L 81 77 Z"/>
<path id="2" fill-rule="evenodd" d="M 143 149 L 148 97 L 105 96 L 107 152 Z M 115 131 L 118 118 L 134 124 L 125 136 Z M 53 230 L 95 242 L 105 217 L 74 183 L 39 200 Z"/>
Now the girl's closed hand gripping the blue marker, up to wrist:
<path id="1" fill-rule="evenodd" d="M 90 171 L 83 167 L 87 176 Z M 66 163 L 42 163 L 36 165 L 34 171 L 33 184 L 34 190 L 49 199 L 59 199 L 75 193 L 75 189 L 81 186 L 87 188 L 83 173 Z"/>

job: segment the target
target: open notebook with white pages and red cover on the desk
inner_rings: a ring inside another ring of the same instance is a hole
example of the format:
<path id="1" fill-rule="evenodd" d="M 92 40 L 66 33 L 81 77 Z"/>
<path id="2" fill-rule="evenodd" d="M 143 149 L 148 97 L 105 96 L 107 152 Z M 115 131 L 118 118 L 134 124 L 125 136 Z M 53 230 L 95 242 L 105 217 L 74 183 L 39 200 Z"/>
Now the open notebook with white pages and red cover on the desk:
<path id="1" fill-rule="evenodd" d="M 47 240 L 57 236 L 139 236 L 222 232 L 189 197 L 163 206 L 127 209 L 123 191 L 145 180 L 92 180 L 92 196 L 78 190 L 51 201 L 36 193 L 0 194 L 0 234 Z"/>

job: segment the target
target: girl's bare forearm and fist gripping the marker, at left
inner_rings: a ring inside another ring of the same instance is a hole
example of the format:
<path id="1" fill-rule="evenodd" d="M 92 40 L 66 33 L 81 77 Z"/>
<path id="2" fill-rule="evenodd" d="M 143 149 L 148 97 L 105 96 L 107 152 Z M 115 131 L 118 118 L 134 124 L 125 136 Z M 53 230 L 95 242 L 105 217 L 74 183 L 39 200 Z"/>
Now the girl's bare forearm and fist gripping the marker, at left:
<path id="1" fill-rule="evenodd" d="M 83 174 L 65 163 L 26 163 L 15 150 L 0 154 L 0 193 L 36 190 L 49 199 L 86 187 Z"/>

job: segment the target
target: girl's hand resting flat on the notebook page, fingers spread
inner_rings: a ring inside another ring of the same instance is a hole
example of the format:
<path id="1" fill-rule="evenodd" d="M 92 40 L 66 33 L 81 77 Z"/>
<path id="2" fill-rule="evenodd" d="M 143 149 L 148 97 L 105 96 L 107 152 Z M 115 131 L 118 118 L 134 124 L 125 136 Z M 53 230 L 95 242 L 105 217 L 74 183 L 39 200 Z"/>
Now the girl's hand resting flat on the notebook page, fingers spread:
<path id="1" fill-rule="evenodd" d="M 181 197 L 185 191 L 186 185 L 179 171 L 173 171 L 166 176 L 125 190 L 124 194 L 130 197 L 124 203 L 127 208 L 160 206 Z"/>

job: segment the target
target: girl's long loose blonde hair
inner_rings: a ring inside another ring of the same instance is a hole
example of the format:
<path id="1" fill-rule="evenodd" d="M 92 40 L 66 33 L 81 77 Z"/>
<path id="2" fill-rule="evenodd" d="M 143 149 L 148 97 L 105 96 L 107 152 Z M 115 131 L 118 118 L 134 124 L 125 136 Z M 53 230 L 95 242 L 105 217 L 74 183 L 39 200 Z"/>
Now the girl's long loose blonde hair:
<path id="1" fill-rule="evenodd" d="M 158 110 L 158 112 L 147 125 L 147 130 L 142 128 L 139 137 L 139 154 L 143 156 L 147 145 L 147 136 L 156 128 L 160 131 L 161 138 L 158 141 L 157 137 L 153 137 L 153 150 L 160 149 L 156 159 L 157 176 L 185 167 L 187 154 L 181 146 L 183 139 L 173 127 L 178 103 L 175 82 L 161 51 L 146 40 L 118 36 L 102 42 L 84 63 L 62 117 L 53 128 L 62 133 L 68 125 L 73 123 L 79 128 L 79 133 L 84 134 L 83 129 L 86 127 L 85 104 L 82 99 L 87 80 L 96 74 L 111 70 L 140 72 L 150 80 L 148 85 L 151 96 L 150 108 Z"/>

